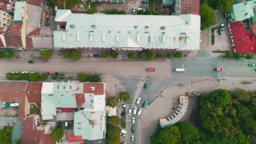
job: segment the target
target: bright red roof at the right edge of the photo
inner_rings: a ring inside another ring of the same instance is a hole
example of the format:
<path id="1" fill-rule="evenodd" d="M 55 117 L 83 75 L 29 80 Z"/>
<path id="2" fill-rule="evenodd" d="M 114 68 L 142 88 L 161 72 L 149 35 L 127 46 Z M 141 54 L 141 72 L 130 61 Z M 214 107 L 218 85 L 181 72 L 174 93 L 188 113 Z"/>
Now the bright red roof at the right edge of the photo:
<path id="1" fill-rule="evenodd" d="M 232 36 L 235 43 L 235 50 L 238 53 L 256 53 L 256 36 L 251 29 L 245 31 L 241 21 L 230 24 Z"/>

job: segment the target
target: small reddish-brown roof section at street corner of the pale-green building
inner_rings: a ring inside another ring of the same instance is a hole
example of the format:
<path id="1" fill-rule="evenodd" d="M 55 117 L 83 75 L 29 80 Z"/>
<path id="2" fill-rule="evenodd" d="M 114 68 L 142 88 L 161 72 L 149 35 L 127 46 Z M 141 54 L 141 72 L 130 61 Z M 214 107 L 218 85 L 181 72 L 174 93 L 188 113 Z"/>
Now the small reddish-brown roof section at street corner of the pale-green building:
<path id="1" fill-rule="evenodd" d="M 92 90 L 94 87 L 94 91 Z M 83 93 L 94 93 L 94 95 L 104 94 L 104 83 L 84 83 Z"/>

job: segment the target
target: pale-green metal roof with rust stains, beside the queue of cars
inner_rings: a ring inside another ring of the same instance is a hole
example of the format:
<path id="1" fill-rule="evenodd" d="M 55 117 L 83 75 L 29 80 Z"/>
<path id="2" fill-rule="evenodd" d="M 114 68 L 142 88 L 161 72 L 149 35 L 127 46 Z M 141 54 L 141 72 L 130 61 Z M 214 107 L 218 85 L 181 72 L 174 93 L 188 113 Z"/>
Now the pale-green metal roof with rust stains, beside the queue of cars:
<path id="1" fill-rule="evenodd" d="M 75 112 L 74 133 L 89 141 L 103 139 L 105 135 L 106 111 L 83 109 Z"/>

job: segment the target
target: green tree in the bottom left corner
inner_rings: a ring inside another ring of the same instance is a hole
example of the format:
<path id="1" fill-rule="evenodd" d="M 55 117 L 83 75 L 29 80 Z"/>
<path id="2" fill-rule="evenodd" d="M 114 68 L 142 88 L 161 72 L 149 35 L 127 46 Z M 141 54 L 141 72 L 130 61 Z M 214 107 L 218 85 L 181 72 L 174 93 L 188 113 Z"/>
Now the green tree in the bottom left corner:
<path id="1" fill-rule="evenodd" d="M 0 144 L 11 144 L 12 127 L 7 126 L 0 130 Z"/>

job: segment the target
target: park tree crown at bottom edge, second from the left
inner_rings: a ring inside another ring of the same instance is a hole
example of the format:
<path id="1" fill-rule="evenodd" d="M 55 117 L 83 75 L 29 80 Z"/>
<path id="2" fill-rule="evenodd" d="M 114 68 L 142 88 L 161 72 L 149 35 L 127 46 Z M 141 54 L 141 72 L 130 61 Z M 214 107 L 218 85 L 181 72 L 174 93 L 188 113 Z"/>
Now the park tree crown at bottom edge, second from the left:
<path id="1" fill-rule="evenodd" d="M 179 122 L 178 128 L 181 133 L 181 138 L 179 139 L 180 144 L 195 144 L 199 141 L 200 134 L 198 128 L 188 122 Z"/>

